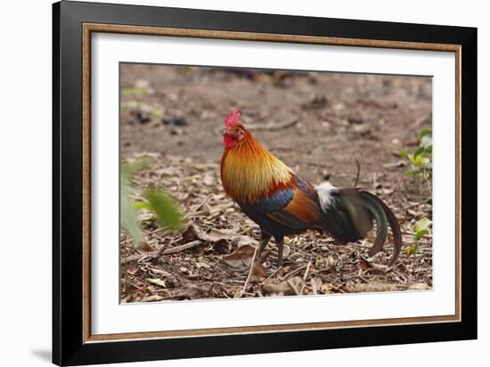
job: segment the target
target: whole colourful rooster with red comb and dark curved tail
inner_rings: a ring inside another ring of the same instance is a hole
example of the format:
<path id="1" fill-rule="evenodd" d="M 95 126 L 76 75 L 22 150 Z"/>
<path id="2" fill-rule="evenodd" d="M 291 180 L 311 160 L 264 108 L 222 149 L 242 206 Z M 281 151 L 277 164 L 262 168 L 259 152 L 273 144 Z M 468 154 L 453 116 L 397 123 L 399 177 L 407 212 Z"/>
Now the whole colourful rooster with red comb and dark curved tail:
<path id="1" fill-rule="evenodd" d="M 222 133 L 221 181 L 226 194 L 260 226 L 262 242 L 257 257 L 274 237 L 278 266 L 282 266 L 284 236 L 314 229 L 328 232 L 338 243 L 354 242 L 366 237 L 375 221 L 376 239 L 369 256 L 383 249 L 389 224 L 395 249 L 388 266 L 395 264 L 402 247 L 400 226 L 378 197 L 329 183 L 310 184 L 257 143 L 241 124 L 237 110 L 226 116 Z"/>

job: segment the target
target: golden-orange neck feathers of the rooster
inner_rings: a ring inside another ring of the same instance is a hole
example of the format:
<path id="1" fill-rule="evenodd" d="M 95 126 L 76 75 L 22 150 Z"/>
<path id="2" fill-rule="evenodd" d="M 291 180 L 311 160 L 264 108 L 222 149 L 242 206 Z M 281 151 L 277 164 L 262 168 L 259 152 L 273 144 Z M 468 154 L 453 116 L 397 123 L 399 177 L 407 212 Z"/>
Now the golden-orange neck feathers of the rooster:
<path id="1" fill-rule="evenodd" d="M 240 204 L 268 197 L 290 184 L 294 172 L 275 158 L 245 129 L 245 136 L 221 158 L 221 181 L 225 192 Z"/>

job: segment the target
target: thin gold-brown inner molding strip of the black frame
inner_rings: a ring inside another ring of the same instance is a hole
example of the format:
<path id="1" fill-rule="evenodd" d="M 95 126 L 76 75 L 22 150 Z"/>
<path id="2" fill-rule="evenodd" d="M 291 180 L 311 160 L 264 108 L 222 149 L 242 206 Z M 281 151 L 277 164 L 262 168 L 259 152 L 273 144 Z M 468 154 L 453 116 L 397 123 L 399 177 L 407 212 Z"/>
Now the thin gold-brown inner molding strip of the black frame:
<path id="1" fill-rule="evenodd" d="M 247 40 L 262 42 L 283 42 L 316 45 L 343 45 L 356 47 L 398 48 L 424 51 L 443 51 L 455 53 L 455 117 L 456 117 L 456 256 L 455 256 L 455 314 L 440 316 L 403 317 L 393 319 L 353 320 L 342 322 L 311 322 L 282 325 L 258 325 L 230 328 L 212 328 L 196 330 L 162 330 L 129 332 L 118 334 L 92 334 L 91 332 L 91 36 L 94 32 L 135 34 L 167 37 L 199 37 L 214 39 Z M 461 46 L 446 44 L 414 43 L 340 37 L 312 37 L 297 35 L 279 35 L 267 33 L 233 32 L 206 29 L 174 29 L 140 27 L 114 24 L 83 24 L 83 112 L 82 112 L 82 159 L 83 159 L 83 342 L 122 341 L 148 338 L 192 338 L 245 333 L 264 333 L 274 331 L 325 330 L 355 328 L 366 326 L 388 326 L 417 323 L 461 322 Z"/>

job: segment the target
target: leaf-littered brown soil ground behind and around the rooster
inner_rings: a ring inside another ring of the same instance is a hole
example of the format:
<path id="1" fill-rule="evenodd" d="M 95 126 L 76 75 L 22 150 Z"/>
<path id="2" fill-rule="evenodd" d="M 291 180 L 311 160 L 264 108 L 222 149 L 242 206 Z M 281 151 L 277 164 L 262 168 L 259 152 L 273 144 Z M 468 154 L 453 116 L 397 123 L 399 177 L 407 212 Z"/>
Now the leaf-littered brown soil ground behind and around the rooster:
<path id="1" fill-rule="evenodd" d="M 413 224 L 432 216 L 425 186 L 404 175 L 399 151 L 414 151 L 431 126 L 429 77 L 317 72 L 264 72 L 124 64 L 121 67 L 121 150 L 125 159 L 151 156 L 134 180 L 136 192 L 158 187 L 178 202 L 182 231 L 143 221 L 146 250 L 121 234 L 121 300 L 308 295 L 355 291 L 427 290 L 432 287 L 432 238 L 421 252 L 402 252 L 387 269 L 392 245 L 367 257 L 372 236 L 345 246 L 306 232 L 286 239 L 285 262 L 269 251 L 249 264 L 257 224 L 225 197 L 219 179 L 225 114 L 243 122 L 279 159 L 319 184 L 357 187 L 380 196 L 412 244 Z"/>

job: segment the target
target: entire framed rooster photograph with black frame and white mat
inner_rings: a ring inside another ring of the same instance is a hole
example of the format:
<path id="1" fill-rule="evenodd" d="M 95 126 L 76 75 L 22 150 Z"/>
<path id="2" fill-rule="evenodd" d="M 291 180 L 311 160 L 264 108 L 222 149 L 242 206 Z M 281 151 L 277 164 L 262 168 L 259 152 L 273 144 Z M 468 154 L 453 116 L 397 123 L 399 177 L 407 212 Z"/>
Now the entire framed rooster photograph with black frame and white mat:
<path id="1" fill-rule="evenodd" d="M 53 4 L 53 363 L 477 338 L 477 29 Z"/>

